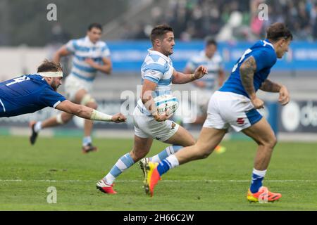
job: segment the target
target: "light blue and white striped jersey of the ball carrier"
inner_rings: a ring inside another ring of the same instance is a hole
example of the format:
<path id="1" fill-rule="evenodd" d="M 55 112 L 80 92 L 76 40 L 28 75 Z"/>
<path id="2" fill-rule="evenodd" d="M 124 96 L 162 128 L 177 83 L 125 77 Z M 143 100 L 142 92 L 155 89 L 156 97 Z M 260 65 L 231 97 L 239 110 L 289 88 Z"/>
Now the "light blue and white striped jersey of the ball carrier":
<path id="1" fill-rule="evenodd" d="M 148 51 L 149 53 L 141 67 L 142 84 L 144 79 L 148 79 L 157 84 L 154 91 L 154 98 L 163 94 L 171 94 L 174 71 L 172 60 L 170 60 L 169 56 L 165 56 L 159 51 L 152 49 Z M 141 99 L 137 101 L 137 107 L 142 113 L 151 115 L 144 107 Z"/>

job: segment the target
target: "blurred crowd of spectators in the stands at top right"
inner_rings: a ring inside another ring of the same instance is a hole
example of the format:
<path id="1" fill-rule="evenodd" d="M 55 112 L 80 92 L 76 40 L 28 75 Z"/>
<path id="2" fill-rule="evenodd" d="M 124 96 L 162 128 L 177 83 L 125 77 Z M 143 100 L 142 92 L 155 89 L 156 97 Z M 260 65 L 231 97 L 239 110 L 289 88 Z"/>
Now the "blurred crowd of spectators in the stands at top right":
<path id="1" fill-rule="evenodd" d="M 183 41 L 207 35 L 218 41 L 253 41 L 265 37 L 271 23 L 284 22 L 295 39 L 317 39 L 317 0 L 168 0 L 166 4 L 151 8 L 151 18 L 122 38 L 145 39 L 151 27 L 168 23 Z"/>

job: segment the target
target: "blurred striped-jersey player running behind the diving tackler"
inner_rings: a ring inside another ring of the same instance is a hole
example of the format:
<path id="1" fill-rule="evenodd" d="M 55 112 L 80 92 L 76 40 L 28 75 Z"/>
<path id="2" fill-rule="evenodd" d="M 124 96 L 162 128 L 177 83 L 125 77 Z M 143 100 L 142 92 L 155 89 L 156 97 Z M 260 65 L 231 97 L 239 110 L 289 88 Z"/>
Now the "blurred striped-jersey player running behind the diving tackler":
<path id="1" fill-rule="evenodd" d="M 97 71 L 110 74 L 112 70 L 110 51 L 107 44 L 100 40 L 101 32 L 101 25 L 92 23 L 88 27 L 86 37 L 68 41 L 54 55 L 54 61 L 56 62 L 59 62 L 63 56 L 73 55 L 73 67 L 65 82 L 67 98 L 73 103 L 80 103 L 94 109 L 97 109 L 97 103 L 89 93 L 92 91 L 92 84 Z M 66 124 L 72 118 L 72 114 L 60 113 L 56 117 L 44 121 L 30 122 L 32 129 L 30 143 L 32 145 L 35 143 L 37 134 L 41 129 Z M 83 153 L 97 150 L 97 147 L 92 145 L 92 127 L 92 121 L 85 120 L 84 137 L 82 139 Z"/>

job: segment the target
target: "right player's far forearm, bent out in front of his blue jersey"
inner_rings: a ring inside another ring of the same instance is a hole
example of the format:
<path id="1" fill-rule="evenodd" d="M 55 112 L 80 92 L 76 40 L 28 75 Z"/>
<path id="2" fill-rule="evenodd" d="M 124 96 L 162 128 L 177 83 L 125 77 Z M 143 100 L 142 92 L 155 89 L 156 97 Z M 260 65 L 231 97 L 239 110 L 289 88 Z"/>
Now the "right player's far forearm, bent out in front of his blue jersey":
<path id="1" fill-rule="evenodd" d="M 280 97 L 278 98 L 278 101 L 282 105 L 286 105 L 287 103 L 290 102 L 290 94 L 286 88 L 286 86 L 277 84 L 274 82 L 271 82 L 271 80 L 266 79 L 260 88 L 262 91 L 268 91 L 268 92 L 279 92 Z"/>

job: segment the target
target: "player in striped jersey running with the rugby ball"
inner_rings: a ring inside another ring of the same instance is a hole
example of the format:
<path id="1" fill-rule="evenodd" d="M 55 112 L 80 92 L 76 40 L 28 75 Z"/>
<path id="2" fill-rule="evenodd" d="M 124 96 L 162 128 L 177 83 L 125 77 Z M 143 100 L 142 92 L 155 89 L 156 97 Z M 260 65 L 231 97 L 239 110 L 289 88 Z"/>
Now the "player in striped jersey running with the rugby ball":
<path id="1" fill-rule="evenodd" d="M 151 158 L 160 162 L 168 155 L 176 153 L 183 146 L 195 143 L 192 135 L 179 124 L 168 120 L 171 115 L 159 115 L 153 98 L 171 94 L 172 84 L 185 84 L 206 75 L 207 69 L 199 66 L 192 74 L 183 74 L 173 68 L 170 55 L 175 45 L 172 27 L 158 25 L 151 30 L 152 48 L 142 65 L 142 94 L 133 113 L 135 124 L 135 143 L 130 153 L 123 155 L 103 179 L 97 182 L 97 188 L 108 194 L 113 190 L 114 180 L 135 162 L 144 158 L 151 148 L 153 139 L 172 144 Z M 148 159 L 148 158 L 147 158 Z M 144 161 L 146 162 L 146 161 Z M 142 165 L 142 164 L 141 164 Z M 142 167 L 144 169 L 144 167 Z"/>

